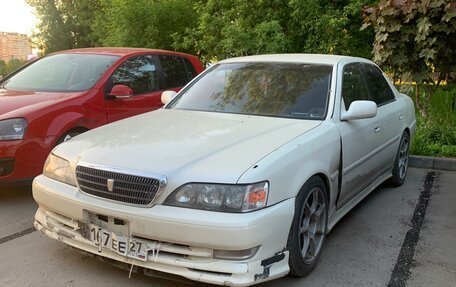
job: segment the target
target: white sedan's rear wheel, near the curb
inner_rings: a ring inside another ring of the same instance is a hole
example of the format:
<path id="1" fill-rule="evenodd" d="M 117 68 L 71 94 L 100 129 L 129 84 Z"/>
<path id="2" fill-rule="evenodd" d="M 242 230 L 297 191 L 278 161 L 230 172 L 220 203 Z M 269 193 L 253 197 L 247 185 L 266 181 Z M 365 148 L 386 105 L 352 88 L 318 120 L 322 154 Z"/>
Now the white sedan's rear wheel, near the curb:
<path id="1" fill-rule="evenodd" d="M 393 176 L 389 180 L 392 186 L 401 186 L 404 184 L 407 176 L 408 158 L 410 148 L 410 136 L 406 131 L 402 133 L 401 141 L 397 149 L 396 158 L 393 164 Z"/>

